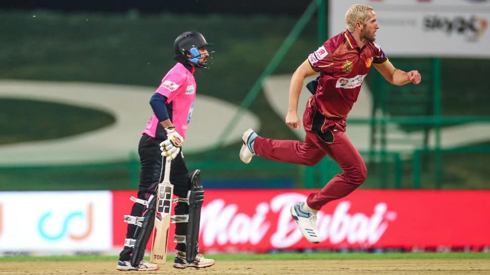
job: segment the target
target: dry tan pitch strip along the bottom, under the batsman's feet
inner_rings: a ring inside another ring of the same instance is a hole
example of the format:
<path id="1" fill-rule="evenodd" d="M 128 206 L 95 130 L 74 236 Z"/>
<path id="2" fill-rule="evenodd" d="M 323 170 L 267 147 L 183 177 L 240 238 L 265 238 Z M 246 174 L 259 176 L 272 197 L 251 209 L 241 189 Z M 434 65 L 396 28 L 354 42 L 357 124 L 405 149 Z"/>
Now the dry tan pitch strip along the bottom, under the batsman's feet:
<path id="1" fill-rule="evenodd" d="M 209 268 L 117 271 L 115 261 L 4 261 L 0 275 L 72 274 L 490 274 L 490 259 L 219 260 Z"/>

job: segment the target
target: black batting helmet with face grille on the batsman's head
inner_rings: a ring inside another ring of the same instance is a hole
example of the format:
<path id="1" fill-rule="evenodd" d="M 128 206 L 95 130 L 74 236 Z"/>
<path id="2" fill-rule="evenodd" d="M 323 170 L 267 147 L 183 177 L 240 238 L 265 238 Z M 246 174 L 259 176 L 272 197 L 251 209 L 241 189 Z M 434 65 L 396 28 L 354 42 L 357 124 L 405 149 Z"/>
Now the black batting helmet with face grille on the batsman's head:
<path id="1" fill-rule="evenodd" d="M 179 62 L 190 61 L 194 64 L 198 64 L 199 59 L 201 58 L 198 49 L 209 45 L 212 45 L 212 43 L 208 43 L 201 33 L 197 31 L 186 31 L 175 39 L 174 59 Z M 192 58 L 187 58 L 185 55 L 186 51 L 189 51 L 192 54 Z"/>

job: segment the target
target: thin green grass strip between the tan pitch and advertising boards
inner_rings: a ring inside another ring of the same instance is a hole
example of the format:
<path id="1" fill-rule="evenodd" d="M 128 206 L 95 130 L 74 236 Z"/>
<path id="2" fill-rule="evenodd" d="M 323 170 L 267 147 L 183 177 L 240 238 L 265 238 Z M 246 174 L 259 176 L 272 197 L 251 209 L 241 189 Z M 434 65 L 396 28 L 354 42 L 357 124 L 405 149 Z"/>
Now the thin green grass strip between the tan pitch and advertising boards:
<path id="1" fill-rule="evenodd" d="M 490 259 L 489 252 L 421 252 L 421 253 L 277 253 L 277 254 L 214 254 L 215 260 L 301 260 L 301 259 Z M 146 257 L 148 258 L 148 257 Z M 0 262 L 8 261 L 117 261 L 118 256 L 4 256 Z M 169 255 L 167 261 L 172 261 Z"/>

